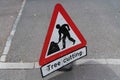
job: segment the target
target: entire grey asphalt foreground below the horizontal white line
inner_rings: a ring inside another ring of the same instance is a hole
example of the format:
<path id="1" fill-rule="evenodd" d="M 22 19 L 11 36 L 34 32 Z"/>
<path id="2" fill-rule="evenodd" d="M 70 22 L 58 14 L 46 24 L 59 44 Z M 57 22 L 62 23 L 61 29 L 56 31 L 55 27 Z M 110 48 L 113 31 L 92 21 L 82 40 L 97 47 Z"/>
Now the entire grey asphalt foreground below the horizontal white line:
<path id="1" fill-rule="evenodd" d="M 89 62 L 87 62 L 89 63 Z M 74 65 L 70 72 L 54 72 L 44 79 L 39 69 L 0 70 L 1 80 L 120 80 L 120 65 Z M 59 74 L 58 74 L 59 73 Z"/>

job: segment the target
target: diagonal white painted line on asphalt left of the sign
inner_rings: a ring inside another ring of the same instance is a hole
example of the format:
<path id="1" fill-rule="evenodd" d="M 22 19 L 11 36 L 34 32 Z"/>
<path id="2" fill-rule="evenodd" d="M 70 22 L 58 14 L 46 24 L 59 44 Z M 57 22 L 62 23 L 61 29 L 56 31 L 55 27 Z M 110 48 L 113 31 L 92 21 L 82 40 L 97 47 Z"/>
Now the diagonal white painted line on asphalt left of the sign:
<path id="1" fill-rule="evenodd" d="M 0 58 L 0 61 L 2 61 L 2 62 L 5 62 L 5 60 L 6 60 L 6 55 L 9 52 L 9 49 L 10 49 L 10 46 L 11 46 L 11 42 L 12 42 L 12 39 L 13 39 L 14 34 L 16 32 L 17 24 L 18 24 L 18 22 L 19 22 L 19 20 L 21 18 L 21 15 L 22 15 L 25 3 L 26 3 L 26 0 L 24 0 L 23 3 L 22 3 L 21 9 L 20 9 L 20 11 L 18 13 L 18 16 L 17 16 L 17 18 L 15 20 L 15 23 L 13 24 L 12 31 L 11 31 L 11 33 L 10 33 L 10 35 L 9 35 L 7 41 L 6 41 L 6 45 L 5 45 L 4 51 L 3 51 L 2 56 Z"/>

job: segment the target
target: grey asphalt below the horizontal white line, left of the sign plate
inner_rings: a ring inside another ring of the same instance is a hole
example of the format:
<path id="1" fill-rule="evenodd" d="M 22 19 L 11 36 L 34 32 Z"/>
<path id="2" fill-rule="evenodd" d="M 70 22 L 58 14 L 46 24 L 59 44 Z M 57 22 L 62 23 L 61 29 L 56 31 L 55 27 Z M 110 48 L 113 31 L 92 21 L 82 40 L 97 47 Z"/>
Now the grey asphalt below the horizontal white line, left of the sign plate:
<path id="1" fill-rule="evenodd" d="M 39 69 L 0 70 L 0 80 L 42 80 Z"/>

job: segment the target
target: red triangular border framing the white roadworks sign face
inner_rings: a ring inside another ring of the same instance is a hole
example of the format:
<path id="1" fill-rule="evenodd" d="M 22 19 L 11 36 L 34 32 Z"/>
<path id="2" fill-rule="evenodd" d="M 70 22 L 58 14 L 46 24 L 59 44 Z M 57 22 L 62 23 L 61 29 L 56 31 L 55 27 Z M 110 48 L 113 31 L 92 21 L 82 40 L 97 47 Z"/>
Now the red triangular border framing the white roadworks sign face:
<path id="1" fill-rule="evenodd" d="M 47 52 L 47 49 L 48 49 L 48 46 L 49 46 L 50 38 L 52 36 L 54 25 L 55 25 L 55 22 L 56 22 L 56 19 L 57 19 L 58 12 L 61 13 L 61 15 L 64 17 L 64 19 L 70 25 L 70 27 L 72 28 L 72 30 L 74 31 L 74 33 L 76 34 L 78 39 L 81 41 L 81 43 L 78 44 L 78 45 L 75 45 L 75 46 L 73 46 L 69 49 L 66 49 L 64 51 L 61 51 L 59 53 L 56 53 L 53 56 L 45 58 L 46 52 Z M 87 42 L 86 42 L 85 38 L 82 36 L 81 32 L 78 30 L 78 28 L 76 27 L 76 25 L 74 24 L 72 19 L 69 17 L 69 15 L 65 11 L 65 9 L 62 7 L 62 5 L 58 3 L 58 4 L 56 4 L 55 9 L 53 11 L 53 15 L 52 15 L 51 22 L 50 22 L 50 25 L 49 25 L 48 33 L 46 35 L 46 39 L 45 39 L 43 49 L 42 49 L 42 53 L 41 53 L 41 56 L 40 56 L 39 65 L 43 66 L 43 65 L 45 65 L 49 62 L 52 62 L 52 61 L 66 55 L 66 54 L 69 54 L 70 52 L 73 52 L 73 51 L 75 51 L 79 48 L 82 48 L 82 47 L 86 46 L 86 44 L 87 44 Z"/>

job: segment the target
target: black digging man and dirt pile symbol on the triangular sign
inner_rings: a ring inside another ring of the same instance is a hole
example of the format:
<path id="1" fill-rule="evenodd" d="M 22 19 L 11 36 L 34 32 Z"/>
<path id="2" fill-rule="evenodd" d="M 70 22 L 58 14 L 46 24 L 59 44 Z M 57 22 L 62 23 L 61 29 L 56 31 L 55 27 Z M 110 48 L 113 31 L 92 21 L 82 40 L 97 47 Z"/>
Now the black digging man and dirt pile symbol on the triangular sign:
<path id="1" fill-rule="evenodd" d="M 73 42 L 73 45 L 75 44 L 75 39 L 73 39 L 69 33 L 70 28 L 68 24 L 63 24 L 60 26 L 60 24 L 56 25 L 56 29 L 58 29 L 58 42 L 57 41 L 52 41 L 50 43 L 50 47 L 48 50 L 48 55 L 55 53 L 60 50 L 59 43 L 62 41 L 62 49 L 66 48 L 66 38 L 68 38 L 69 41 Z"/>

